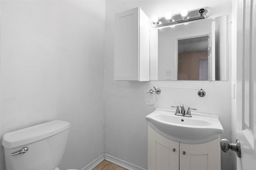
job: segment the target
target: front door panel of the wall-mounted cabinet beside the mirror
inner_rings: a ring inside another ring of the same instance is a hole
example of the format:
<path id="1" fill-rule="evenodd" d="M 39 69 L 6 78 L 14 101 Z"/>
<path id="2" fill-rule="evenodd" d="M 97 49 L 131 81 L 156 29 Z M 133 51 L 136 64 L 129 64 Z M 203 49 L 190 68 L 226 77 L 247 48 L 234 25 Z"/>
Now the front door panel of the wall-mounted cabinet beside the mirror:
<path id="1" fill-rule="evenodd" d="M 139 8 L 115 15 L 115 80 L 138 80 Z"/>

